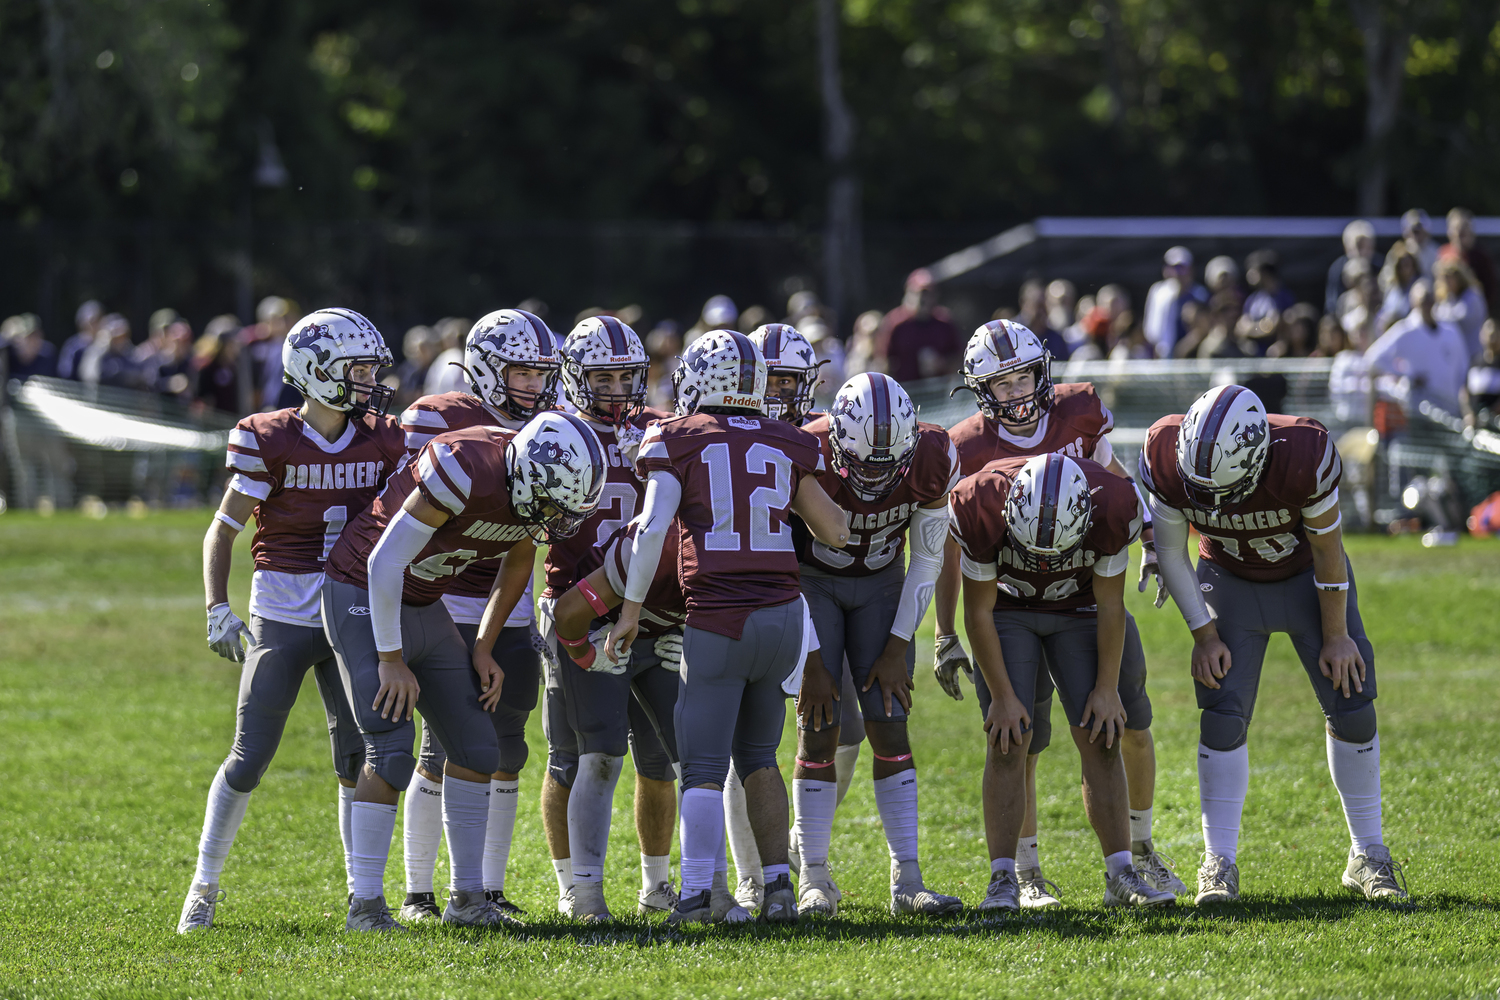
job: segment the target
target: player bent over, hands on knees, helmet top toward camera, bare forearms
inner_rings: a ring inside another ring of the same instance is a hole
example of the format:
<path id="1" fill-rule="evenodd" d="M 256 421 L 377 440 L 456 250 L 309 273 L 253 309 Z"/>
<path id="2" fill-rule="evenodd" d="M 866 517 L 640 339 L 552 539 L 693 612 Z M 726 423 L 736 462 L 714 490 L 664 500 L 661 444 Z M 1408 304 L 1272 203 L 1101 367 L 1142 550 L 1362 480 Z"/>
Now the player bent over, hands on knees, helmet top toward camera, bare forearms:
<path id="1" fill-rule="evenodd" d="M 1016 846 L 1026 814 L 1030 711 L 1044 670 L 1083 759 L 1083 805 L 1104 850 L 1104 904 L 1172 906 L 1176 895 L 1132 865 L 1119 753 L 1125 570 L 1142 522 L 1136 490 L 1089 459 L 1002 459 L 954 489 L 951 517 L 964 625 L 993 696 L 984 720 L 990 888 L 980 909 L 1020 910 Z"/>

